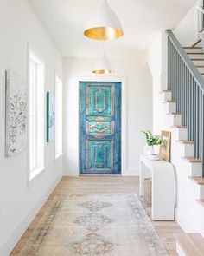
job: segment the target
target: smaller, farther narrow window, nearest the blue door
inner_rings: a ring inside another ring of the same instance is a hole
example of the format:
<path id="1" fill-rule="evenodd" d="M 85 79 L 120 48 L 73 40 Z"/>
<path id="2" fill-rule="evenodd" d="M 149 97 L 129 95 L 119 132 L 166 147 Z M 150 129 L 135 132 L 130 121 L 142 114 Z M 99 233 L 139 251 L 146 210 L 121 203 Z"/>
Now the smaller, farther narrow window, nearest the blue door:
<path id="1" fill-rule="evenodd" d="M 62 154 L 62 82 L 55 82 L 55 158 Z"/>

